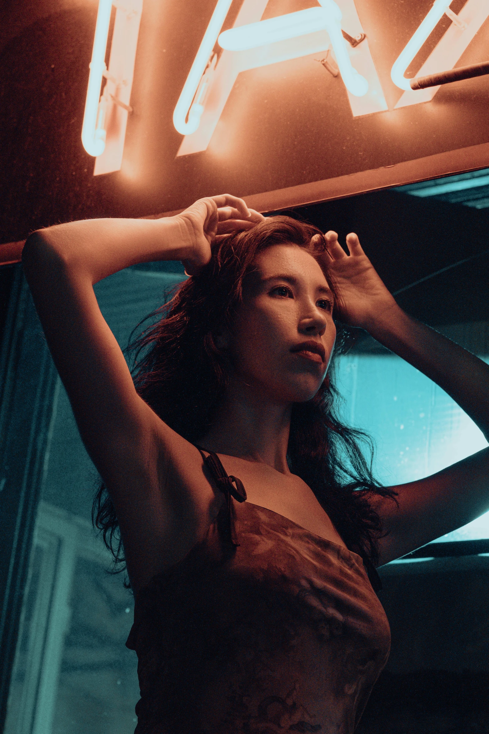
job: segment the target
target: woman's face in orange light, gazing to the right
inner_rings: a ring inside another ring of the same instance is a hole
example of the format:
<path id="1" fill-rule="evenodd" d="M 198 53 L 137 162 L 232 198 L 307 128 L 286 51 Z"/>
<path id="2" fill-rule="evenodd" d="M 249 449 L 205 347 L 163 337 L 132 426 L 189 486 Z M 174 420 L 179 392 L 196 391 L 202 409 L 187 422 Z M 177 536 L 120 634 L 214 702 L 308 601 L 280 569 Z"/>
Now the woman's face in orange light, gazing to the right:
<path id="1" fill-rule="evenodd" d="M 298 245 L 268 247 L 255 265 L 231 336 L 235 375 L 263 399 L 309 400 L 336 338 L 333 294 L 315 258 Z"/>

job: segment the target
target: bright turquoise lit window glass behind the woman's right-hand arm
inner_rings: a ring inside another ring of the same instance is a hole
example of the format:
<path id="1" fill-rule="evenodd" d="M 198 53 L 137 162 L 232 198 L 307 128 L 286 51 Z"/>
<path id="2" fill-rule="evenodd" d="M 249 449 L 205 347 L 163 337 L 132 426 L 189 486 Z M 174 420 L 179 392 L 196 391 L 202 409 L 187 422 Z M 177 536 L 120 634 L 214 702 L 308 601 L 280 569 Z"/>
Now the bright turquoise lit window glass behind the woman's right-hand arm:
<path id="1" fill-rule="evenodd" d="M 375 439 L 383 484 L 421 479 L 488 446 L 444 390 L 396 355 L 345 355 L 337 377 L 345 420 Z M 489 512 L 433 542 L 480 538 L 489 538 Z"/>

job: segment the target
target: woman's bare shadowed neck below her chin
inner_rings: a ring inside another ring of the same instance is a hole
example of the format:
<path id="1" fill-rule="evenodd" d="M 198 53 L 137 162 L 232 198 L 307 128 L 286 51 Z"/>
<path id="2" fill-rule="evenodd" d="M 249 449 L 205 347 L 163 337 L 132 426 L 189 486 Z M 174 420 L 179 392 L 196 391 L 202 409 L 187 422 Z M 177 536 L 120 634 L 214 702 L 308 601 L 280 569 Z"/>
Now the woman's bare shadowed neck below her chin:
<path id="1" fill-rule="evenodd" d="M 287 446 L 291 409 L 290 404 L 276 404 L 246 385 L 233 385 L 199 445 L 216 454 L 260 462 L 290 474 Z"/>

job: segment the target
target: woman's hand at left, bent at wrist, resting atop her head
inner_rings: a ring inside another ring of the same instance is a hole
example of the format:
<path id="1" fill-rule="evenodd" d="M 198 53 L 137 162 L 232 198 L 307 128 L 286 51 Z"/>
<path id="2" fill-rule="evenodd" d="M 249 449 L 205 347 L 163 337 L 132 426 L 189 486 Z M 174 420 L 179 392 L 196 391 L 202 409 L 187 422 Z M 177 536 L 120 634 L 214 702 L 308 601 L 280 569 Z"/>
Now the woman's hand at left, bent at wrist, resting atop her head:
<path id="1" fill-rule="evenodd" d="M 211 249 L 223 236 L 249 230 L 265 217 L 249 209 L 243 199 L 230 194 L 205 197 L 175 217 L 180 225 L 188 258 L 183 260 L 187 275 L 196 275 L 210 261 Z"/>

